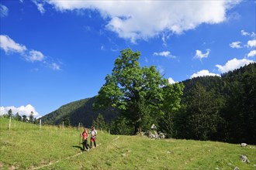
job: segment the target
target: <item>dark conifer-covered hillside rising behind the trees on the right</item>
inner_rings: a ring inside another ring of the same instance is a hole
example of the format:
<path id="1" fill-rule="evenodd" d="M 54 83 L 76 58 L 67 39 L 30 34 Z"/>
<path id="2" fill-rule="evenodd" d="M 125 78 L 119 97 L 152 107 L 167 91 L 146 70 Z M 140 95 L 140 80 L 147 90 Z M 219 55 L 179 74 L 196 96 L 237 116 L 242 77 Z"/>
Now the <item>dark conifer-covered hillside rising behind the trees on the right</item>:
<path id="1" fill-rule="evenodd" d="M 182 101 L 191 95 L 190 92 L 195 84 L 199 84 L 206 91 L 212 92 L 214 96 L 223 100 L 230 100 L 234 95 L 241 95 L 244 92 L 244 97 L 249 97 L 248 100 L 254 101 L 256 97 L 256 63 L 240 67 L 221 76 L 197 76 L 184 80 L 182 83 L 185 86 Z M 247 88 L 247 90 L 244 88 Z M 247 96 L 249 93 L 251 96 Z"/>

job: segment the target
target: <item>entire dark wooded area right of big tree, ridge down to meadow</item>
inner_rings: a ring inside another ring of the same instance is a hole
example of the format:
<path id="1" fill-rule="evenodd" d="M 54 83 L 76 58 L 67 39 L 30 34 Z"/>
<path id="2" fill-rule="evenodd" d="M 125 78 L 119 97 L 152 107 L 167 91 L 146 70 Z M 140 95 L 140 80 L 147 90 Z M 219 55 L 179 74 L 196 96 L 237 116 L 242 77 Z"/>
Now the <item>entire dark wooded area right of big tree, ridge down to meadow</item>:
<path id="1" fill-rule="evenodd" d="M 183 107 L 173 117 L 175 137 L 255 144 L 255 80 L 256 63 L 251 63 L 222 77 L 183 81 Z"/>

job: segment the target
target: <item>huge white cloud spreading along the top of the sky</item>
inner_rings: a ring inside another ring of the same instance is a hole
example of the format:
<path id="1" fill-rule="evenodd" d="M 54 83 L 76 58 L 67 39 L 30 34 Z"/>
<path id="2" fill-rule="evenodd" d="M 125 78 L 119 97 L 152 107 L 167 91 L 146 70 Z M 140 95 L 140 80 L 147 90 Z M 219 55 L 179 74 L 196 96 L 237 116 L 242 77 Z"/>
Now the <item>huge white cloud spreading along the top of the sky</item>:
<path id="1" fill-rule="evenodd" d="M 180 34 L 202 23 L 217 24 L 237 1 L 47 1 L 61 12 L 97 10 L 106 19 L 106 29 L 120 38 L 149 39 L 161 32 Z"/>

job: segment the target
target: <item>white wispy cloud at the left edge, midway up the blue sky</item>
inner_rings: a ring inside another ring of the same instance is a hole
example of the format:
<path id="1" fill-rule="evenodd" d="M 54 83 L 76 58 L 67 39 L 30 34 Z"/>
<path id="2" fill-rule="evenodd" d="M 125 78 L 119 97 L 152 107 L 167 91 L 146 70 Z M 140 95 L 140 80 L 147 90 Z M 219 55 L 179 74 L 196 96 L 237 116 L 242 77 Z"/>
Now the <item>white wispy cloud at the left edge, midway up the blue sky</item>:
<path id="1" fill-rule="evenodd" d="M 26 51 L 26 46 L 14 42 L 9 36 L 6 35 L 0 35 L 0 47 L 5 51 L 5 53 L 24 53 Z"/>

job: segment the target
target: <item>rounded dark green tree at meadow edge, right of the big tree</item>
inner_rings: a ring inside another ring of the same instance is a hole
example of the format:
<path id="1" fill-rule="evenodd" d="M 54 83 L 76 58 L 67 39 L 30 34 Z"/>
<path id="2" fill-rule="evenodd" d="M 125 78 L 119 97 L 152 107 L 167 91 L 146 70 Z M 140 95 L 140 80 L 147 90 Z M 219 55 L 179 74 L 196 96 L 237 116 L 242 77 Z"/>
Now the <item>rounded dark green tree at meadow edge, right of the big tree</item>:
<path id="1" fill-rule="evenodd" d="M 187 114 L 187 138 L 209 140 L 216 133 L 220 120 L 219 104 L 213 91 L 206 91 L 201 84 L 196 83 L 185 99 Z"/>

